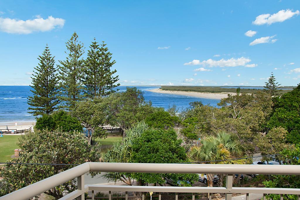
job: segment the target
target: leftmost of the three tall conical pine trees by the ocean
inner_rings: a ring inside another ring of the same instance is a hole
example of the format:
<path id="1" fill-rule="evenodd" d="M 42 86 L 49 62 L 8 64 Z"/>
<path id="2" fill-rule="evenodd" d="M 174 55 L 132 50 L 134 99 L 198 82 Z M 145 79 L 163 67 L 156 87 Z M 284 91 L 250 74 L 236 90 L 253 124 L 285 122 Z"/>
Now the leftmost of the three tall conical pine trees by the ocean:
<path id="1" fill-rule="evenodd" d="M 54 56 L 51 56 L 48 45 L 38 57 L 40 63 L 32 74 L 33 96 L 28 97 L 29 113 L 34 116 L 50 114 L 59 104 L 57 67 L 54 67 Z"/>

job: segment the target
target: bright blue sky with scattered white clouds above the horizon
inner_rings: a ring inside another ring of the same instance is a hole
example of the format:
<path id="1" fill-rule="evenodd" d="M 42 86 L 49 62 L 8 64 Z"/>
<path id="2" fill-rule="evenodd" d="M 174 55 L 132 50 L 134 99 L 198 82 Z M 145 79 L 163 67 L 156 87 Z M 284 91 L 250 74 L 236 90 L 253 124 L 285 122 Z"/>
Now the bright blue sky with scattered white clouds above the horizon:
<path id="1" fill-rule="evenodd" d="M 85 51 L 94 37 L 107 43 L 121 85 L 264 85 L 271 72 L 297 85 L 299 10 L 287 0 L 2 0 L 0 85 L 29 85 L 46 43 L 65 59 L 74 31 Z"/>

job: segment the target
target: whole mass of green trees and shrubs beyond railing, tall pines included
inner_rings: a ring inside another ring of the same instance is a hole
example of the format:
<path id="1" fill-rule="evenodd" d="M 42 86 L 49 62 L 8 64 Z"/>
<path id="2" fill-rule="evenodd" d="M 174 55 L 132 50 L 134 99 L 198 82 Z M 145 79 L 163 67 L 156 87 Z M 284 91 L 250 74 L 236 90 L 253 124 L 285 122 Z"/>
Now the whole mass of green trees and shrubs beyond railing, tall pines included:
<path id="1" fill-rule="evenodd" d="M 119 76 L 111 69 L 116 61 L 104 42 L 99 45 L 94 40 L 86 59 L 76 33 L 66 46 L 67 58 L 59 61 L 58 68 L 47 46 L 39 57 L 32 82 L 35 92 L 28 99 L 30 112 L 38 117 L 35 132 L 16 142 L 22 152 L 10 161 L 29 164 L 7 164 L 0 171 L 0 195 L 87 161 L 245 164 L 252 163 L 247 157 L 259 152 L 262 161 L 270 161 L 269 154 L 273 154 L 280 164 L 299 164 L 295 157 L 300 144 L 300 85 L 280 90 L 272 74 L 265 90 L 162 86 L 165 90 L 232 92 L 217 107 L 196 101 L 179 113 L 175 105 L 167 110 L 153 107 L 136 87 L 117 92 Z M 105 126 L 120 127 L 123 134 L 105 140 L 109 134 Z M 86 137 L 83 127 L 96 137 L 96 144 L 90 145 L 91 135 Z M 101 143 L 111 146 L 101 152 Z M 223 186 L 224 175 L 220 174 L 207 175 L 208 186 L 213 187 L 215 176 Z M 198 179 L 196 174 L 113 172 L 103 177 L 139 186 L 164 185 L 168 180 L 191 186 Z M 268 187 L 300 187 L 289 178 L 274 175 L 263 181 Z M 58 199 L 75 186 L 74 179 L 45 193 Z"/>

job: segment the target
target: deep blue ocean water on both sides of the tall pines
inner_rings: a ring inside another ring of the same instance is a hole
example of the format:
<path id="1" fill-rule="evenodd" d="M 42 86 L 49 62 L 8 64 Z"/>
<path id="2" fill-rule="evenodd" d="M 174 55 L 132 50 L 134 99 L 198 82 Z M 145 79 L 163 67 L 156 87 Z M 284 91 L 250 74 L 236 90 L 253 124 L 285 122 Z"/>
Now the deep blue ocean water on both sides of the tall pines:
<path id="1" fill-rule="evenodd" d="M 193 101 L 201 101 L 204 105 L 217 106 L 220 100 L 198 97 L 188 97 L 176 94 L 160 94 L 147 90 L 159 88 L 154 86 L 136 86 L 144 92 L 146 101 L 152 101 L 152 106 L 168 109 L 175 104 L 179 111 L 189 107 Z M 119 86 L 120 92 L 126 91 L 126 86 Z M 32 95 L 30 86 L 0 86 L 0 123 L 15 121 L 34 121 L 35 117 L 28 113 L 27 97 Z"/>

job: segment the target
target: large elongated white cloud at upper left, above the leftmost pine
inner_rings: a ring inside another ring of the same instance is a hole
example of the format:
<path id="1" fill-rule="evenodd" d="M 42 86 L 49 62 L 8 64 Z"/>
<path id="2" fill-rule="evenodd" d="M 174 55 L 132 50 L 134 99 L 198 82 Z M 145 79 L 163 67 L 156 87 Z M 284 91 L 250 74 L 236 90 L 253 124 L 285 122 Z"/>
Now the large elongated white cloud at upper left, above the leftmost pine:
<path id="1" fill-rule="evenodd" d="M 0 31 L 6 33 L 29 34 L 32 32 L 45 32 L 54 28 L 62 28 L 64 19 L 48 16 L 47 19 L 36 18 L 26 21 L 0 17 Z"/>

